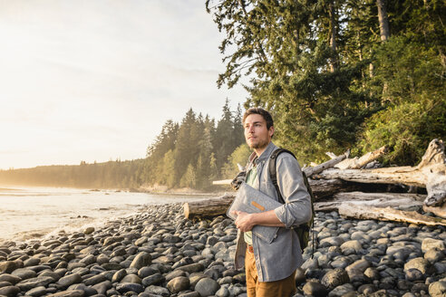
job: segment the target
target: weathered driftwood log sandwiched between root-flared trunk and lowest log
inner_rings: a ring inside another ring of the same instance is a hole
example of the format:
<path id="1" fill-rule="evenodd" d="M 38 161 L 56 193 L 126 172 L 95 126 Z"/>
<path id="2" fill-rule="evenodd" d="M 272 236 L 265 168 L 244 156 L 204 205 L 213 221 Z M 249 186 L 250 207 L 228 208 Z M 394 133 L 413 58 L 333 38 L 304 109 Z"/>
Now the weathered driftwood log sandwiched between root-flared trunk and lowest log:
<path id="1" fill-rule="evenodd" d="M 337 193 L 333 201 L 316 202 L 315 211 L 336 211 L 343 204 L 354 206 L 374 206 L 374 207 L 399 207 L 410 208 L 412 206 L 422 206 L 425 195 L 407 193 L 364 193 L 348 192 Z"/>

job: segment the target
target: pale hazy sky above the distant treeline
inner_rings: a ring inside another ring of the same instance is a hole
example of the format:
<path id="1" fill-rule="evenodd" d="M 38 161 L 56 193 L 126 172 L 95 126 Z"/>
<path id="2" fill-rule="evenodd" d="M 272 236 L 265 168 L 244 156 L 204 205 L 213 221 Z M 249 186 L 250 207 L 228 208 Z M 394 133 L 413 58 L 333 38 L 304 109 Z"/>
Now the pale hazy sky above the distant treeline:
<path id="1" fill-rule="evenodd" d="M 189 108 L 218 119 L 204 0 L 0 0 L 0 168 L 143 158 Z"/>

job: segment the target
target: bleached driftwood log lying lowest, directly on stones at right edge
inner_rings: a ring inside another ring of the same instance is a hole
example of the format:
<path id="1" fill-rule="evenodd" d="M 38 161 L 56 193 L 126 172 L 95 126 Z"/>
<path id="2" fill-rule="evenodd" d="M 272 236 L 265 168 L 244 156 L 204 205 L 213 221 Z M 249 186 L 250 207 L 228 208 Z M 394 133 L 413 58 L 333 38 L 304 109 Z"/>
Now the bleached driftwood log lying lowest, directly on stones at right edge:
<path id="1" fill-rule="evenodd" d="M 381 221 L 406 222 L 417 225 L 446 225 L 446 220 L 439 217 L 423 216 L 414 211 L 396 210 L 392 207 L 339 206 L 339 215 L 356 219 L 372 219 Z"/>

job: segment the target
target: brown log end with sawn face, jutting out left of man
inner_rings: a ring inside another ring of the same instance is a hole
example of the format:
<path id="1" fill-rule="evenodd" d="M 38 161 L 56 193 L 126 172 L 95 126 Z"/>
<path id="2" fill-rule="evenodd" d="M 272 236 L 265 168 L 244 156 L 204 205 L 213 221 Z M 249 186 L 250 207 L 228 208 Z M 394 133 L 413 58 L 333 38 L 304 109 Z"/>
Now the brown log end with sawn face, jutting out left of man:
<path id="1" fill-rule="evenodd" d="M 234 195 L 187 202 L 183 205 L 184 217 L 213 217 L 225 215 L 234 200 Z"/>

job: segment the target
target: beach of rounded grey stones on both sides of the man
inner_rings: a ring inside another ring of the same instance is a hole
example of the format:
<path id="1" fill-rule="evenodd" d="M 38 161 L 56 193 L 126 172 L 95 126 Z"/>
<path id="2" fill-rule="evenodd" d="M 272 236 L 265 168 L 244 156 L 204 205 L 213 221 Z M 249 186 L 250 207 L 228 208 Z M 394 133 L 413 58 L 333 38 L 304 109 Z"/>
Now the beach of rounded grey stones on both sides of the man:
<path id="1" fill-rule="evenodd" d="M 317 213 L 314 235 L 296 296 L 446 296 L 442 226 Z M 226 216 L 190 221 L 180 204 L 144 206 L 100 229 L 0 244 L 0 296 L 246 296 L 236 238 Z"/>

